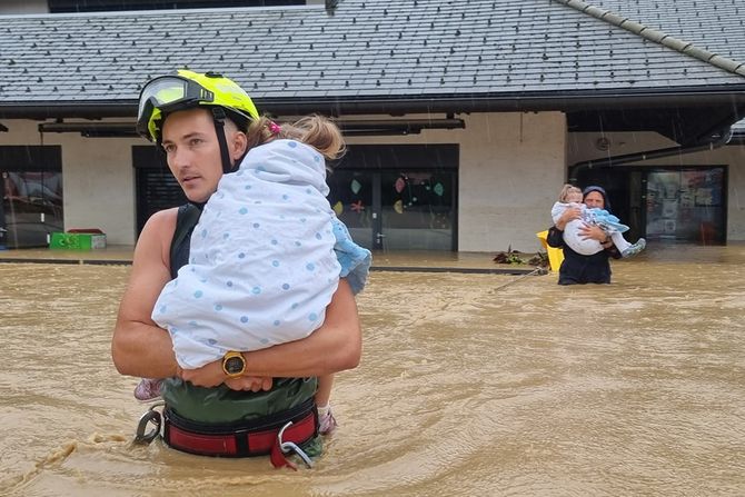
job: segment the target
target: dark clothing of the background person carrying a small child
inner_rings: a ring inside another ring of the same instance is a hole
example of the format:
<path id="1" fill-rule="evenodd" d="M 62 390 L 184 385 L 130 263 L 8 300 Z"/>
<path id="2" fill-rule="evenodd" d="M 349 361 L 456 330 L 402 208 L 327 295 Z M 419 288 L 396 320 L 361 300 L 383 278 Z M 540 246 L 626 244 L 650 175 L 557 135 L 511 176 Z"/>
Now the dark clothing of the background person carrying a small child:
<path id="1" fill-rule="evenodd" d="M 615 246 L 592 256 L 577 254 L 564 243 L 564 231 L 555 226 L 548 229 L 546 242 L 549 247 L 564 250 L 564 262 L 559 268 L 559 285 L 609 284 L 610 264 L 608 258 L 620 258 L 620 254 Z"/>

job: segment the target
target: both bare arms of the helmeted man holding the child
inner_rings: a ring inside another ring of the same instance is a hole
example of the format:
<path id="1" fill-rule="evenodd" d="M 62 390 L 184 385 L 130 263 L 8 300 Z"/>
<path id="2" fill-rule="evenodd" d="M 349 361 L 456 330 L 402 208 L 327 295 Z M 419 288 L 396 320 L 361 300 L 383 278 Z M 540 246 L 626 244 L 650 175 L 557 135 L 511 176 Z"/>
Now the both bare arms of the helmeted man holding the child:
<path id="1" fill-rule="evenodd" d="M 156 300 L 171 279 L 170 240 L 176 229 L 176 209 L 153 215 L 142 229 L 135 249 L 132 272 L 125 291 L 111 340 L 111 356 L 122 375 L 162 378 L 175 376 L 178 365 L 168 331 L 150 318 Z M 309 337 L 268 349 L 245 352 L 247 376 L 306 377 L 351 369 L 361 355 L 361 328 L 357 305 L 346 280 L 326 309 L 324 325 Z M 196 385 L 225 381 L 221 361 L 180 372 Z"/>

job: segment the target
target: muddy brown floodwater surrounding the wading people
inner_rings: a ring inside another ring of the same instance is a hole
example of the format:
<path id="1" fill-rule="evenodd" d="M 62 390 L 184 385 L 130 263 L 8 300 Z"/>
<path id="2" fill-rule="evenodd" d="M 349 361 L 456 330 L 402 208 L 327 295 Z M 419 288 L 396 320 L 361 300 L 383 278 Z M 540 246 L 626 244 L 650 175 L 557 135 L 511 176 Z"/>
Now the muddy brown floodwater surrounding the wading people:
<path id="1" fill-rule="evenodd" d="M 372 272 L 314 469 L 133 446 L 110 339 L 128 266 L 0 264 L 0 495 L 739 496 L 745 246 L 662 247 L 610 286 Z"/>

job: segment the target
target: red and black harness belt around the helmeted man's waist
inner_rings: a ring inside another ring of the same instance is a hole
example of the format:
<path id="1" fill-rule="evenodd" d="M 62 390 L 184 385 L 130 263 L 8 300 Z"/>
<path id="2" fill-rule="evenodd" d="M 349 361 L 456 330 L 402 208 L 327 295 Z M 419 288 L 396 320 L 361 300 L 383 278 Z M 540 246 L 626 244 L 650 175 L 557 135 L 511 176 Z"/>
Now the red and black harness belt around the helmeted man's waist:
<path id="1" fill-rule="evenodd" d="M 318 411 L 312 399 L 282 412 L 231 425 L 191 421 L 167 406 L 163 409 L 163 440 L 189 454 L 213 457 L 270 455 L 275 467 L 291 466 L 281 451 L 279 431 L 286 427 L 281 441 L 302 446 L 318 435 L 317 420 Z"/>

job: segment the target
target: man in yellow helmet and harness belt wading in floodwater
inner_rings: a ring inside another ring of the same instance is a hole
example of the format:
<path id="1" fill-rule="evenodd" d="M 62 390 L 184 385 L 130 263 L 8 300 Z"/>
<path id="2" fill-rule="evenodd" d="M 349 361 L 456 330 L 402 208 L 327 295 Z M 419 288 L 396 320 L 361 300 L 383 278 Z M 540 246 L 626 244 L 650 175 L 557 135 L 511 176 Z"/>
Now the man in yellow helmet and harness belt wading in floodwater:
<path id="1" fill-rule="evenodd" d="M 169 378 L 162 397 L 163 438 L 170 446 L 225 457 L 271 453 L 280 466 L 286 463 L 277 437 L 282 428 L 290 446 L 311 457 L 321 451 L 316 377 L 359 362 L 361 330 L 348 282 L 339 281 L 322 326 L 307 338 L 226 356 L 199 369 L 178 367 L 170 335 L 151 319 L 160 291 L 189 259 L 199 208 L 246 155 L 246 130 L 255 118 L 248 95 L 219 74 L 182 72 L 145 86 L 138 130 L 153 133 L 159 147 L 163 140 L 173 145 L 168 167 L 190 203 L 155 213 L 142 229 L 111 354 L 122 375 Z M 234 366 L 238 376 L 228 375 Z"/>

